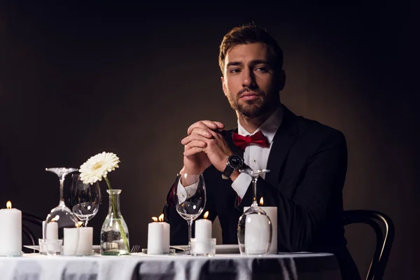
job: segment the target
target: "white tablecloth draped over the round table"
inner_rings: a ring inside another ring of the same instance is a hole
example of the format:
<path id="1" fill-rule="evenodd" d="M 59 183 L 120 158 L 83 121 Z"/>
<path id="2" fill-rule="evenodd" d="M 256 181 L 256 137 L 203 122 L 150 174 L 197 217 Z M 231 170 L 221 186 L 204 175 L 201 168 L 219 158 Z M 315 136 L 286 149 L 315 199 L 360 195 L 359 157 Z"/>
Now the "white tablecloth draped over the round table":
<path id="1" fill-rule="evenodd" d="M 295 253 L 244 257 L 145 255 L 0 257 L 1 280 L 341 279 L 335 255 Z"/>

